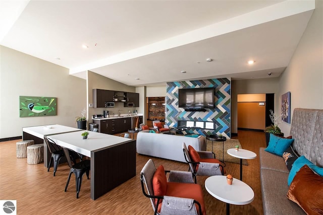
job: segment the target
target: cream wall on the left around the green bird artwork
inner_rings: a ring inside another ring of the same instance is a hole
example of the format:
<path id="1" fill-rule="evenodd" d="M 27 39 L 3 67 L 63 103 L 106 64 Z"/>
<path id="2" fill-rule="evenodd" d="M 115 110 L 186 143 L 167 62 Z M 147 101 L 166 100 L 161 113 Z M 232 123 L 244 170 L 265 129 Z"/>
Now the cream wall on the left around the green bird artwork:
<path id="1" fill-rule="evenodd" d="M 0 138 L 22 135 L 22 127 L 62 124 L 77 127 L 86 108 L 86 81 L 65 67 L 0 46 Z M 57 97 L 56 116 L 19 117 L 19 96 Z"/>

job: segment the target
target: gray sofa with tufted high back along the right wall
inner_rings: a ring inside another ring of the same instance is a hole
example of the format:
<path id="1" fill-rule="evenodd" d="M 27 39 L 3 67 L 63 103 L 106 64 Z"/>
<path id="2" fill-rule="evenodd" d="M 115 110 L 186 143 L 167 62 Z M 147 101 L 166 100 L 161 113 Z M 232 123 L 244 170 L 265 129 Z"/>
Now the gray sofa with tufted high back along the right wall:
<path id="1" fill-rule="evenodd" d="M 323 110 L 294 109 L 290 135 L 293 150 L 323 167 Z M 286 196 L 289 170 L 284 159 L 260 148 L 260 181 L 264 214 L 305 214 Z"/>

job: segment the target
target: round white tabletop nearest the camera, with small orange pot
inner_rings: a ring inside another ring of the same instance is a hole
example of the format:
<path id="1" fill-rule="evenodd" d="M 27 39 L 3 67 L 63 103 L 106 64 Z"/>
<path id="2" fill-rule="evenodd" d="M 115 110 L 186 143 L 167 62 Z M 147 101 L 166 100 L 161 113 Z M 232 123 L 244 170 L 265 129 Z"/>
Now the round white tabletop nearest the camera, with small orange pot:
<path id="1" fill-rule="evenodd" d="M 224 175 L 208 177 L 205 180 L 205 189 L 213 197 L 229 204 L 244 205 L 254 199 L 254 192 L 248 184 L 233 178 L 232 185 L 229 185 L 227 176 Z"/>

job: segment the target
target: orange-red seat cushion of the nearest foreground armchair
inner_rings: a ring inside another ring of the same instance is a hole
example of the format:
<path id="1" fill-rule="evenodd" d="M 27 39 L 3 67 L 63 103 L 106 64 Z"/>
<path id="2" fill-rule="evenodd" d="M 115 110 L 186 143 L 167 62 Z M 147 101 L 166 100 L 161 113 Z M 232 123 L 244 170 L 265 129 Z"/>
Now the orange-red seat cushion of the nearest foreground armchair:
<path id="1" fill-rule="evenodd" d="M 168 182 L 166 195 L 195 199 L 201 204 L 202 214 L 206 214 L 203 191 L 199 184 Z M 198 205 L 195 206 L 198 211 Z"/>

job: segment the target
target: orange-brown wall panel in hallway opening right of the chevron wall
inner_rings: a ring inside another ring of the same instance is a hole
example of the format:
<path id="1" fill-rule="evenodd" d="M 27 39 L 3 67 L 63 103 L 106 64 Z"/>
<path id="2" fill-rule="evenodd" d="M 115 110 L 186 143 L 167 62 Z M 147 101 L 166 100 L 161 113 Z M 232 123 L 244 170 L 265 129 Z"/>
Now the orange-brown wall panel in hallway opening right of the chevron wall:
<path id="1" fill-rule="evenodd" d="M 238 102 L 238 128 L 265 128 L 265 105 L 258 102 Z"/>

